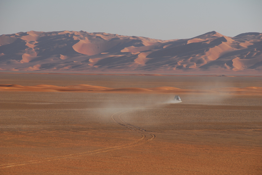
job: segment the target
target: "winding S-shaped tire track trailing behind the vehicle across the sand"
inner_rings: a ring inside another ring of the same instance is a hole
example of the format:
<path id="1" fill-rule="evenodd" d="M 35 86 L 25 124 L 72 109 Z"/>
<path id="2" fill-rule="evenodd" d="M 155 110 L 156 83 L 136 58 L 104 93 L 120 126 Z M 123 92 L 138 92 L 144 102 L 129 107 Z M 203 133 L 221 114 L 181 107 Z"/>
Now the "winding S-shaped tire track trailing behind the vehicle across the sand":
<path id="1" fill-rule="evenodd" d="M 149 142 L 149 141 L 155 139 L 154 134 L 152 134 L 152 133 L 150 133 L 150 132 L 148 132 L 148 131 L 146 131 L 146 130 L 138 127 L 138 126 L 134 126 L 134 125 L 131 125 L 129 123 L 124 122 L 121 118 L 121 115 L 123 115 L 124 113 L 127 113 L 129 111 L 133 111 L 133 110 L 145 108 L 145 107 L 150 107 L 150 106 L 155 106 L 155 105 L 141 106 L 141 107 L 137 107 L 137 108 L 133 108 L 133 109 L 123 110 L 123 111 L 119 111 L 119 112 L 116 112 L 116 113 L 111 115 L 111 119 L 114 122 L 118 123 L 121 126 L 127 127 L 130 130 L 138 132 L 139 134 L 142 135 L 141 138 L 139 138 L 139 139 L 137 139 L 133 142 L 126 143 L 126 144 L 120 145 L 120 146 L 115 146 L 115 147 L 102 148 L 102 149 L 98 149 L 98 150 L 94 150 L 94 151 L 87 151 L 87 152 L 81 152 L 81 153 L 76 153 L 76 154 L 68 154 L 68 155 L 65 155 L 65 156 L 50 157 L 50 158 L 38 159 L 38 160 L 29 160 L 29 161 L 18 162 L 18 163 L 2 164 L 2 165 L 0 165 L 0 169 L 15 167 L 15 166 L 22 166 L 22 165 L 27 165 L 27 164 L 35 164 L 35 163 L 53 161 L 53 160 L 62 160 L 62 159 L 68 159 L 68 158 L 79 157 L 79 156 L 86 156 L 86 155 L 97 154 L 97 153 L 102 153 L 102 152 L 109 152 L 109 151 L 123 149 L 123 148 L 127 148 L 127 147 L 134 147 L 134 146 L 138 146 L 138 145 L 144 144 L 146 142 Z"/>

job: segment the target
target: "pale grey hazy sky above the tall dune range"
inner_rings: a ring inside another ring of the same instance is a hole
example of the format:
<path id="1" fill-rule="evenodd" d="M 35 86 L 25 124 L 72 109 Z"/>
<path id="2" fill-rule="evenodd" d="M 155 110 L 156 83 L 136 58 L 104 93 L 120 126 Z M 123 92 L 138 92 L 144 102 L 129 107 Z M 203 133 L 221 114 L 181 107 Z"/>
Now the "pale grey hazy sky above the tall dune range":
<path id="1" fill-rule="evenodd" d="M 106 32 L 169 40 L 262 32 L 262 0 L 0 0 L 0 35 Z"/>

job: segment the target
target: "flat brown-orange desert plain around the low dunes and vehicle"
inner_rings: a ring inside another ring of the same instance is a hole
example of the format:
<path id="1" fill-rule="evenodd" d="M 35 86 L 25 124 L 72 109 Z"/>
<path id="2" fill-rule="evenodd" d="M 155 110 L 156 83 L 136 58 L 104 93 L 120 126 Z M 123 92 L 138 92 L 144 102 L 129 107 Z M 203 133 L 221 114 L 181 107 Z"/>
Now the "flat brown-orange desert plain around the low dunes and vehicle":
<path id="1" fill-rule="evenodd" d="M 261 77 L 2 75 L 0 84 L 262 87 Z M 174 95 L 182 102 L 174 103 Z M 1 174 L 261 174 L 262 96 L 0 92 Z"/>

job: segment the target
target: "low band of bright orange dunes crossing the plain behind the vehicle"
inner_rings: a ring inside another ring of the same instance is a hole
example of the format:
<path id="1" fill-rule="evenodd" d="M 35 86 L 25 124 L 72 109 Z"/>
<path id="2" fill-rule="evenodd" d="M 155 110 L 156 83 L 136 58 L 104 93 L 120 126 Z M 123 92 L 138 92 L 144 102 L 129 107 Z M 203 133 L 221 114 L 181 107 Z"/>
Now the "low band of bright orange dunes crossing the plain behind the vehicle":
<path id="1" fill-rule="evenodd" d="M 209 93 L 226 93 L 242 95 L 262 95 L 262 87 L 245 87 L 245 88 L 220 88 L 220 89 L 180 89 L 173 87 L 157 88 L 106 88 L 101 86 L 92 86 L 87 84 L 77 84 L 72 86 L 54 86 L 54 85 L 36 85 L 21 86 L 17 84 L 0 84 L 0 91 L 34 91 L 34 92 L 98 92 L 98 93 L 172 93 L 172 94 L 209 94 Z"/>

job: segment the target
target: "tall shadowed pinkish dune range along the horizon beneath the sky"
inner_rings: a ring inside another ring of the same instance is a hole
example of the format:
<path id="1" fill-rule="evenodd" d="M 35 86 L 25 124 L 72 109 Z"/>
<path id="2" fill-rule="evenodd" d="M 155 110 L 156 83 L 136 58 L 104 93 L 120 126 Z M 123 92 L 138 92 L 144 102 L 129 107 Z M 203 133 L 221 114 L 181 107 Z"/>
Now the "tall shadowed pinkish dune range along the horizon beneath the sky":
<path id="1" fill-rule="evenodd" d="M 262 33 L 235 37 L 215 31 L 156 40 L 84 31 L 19 32 L 0 36 L 0 70 L 262 74 Z"/>

